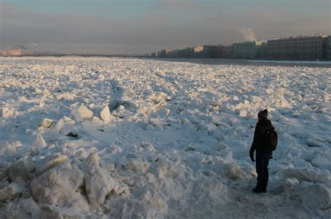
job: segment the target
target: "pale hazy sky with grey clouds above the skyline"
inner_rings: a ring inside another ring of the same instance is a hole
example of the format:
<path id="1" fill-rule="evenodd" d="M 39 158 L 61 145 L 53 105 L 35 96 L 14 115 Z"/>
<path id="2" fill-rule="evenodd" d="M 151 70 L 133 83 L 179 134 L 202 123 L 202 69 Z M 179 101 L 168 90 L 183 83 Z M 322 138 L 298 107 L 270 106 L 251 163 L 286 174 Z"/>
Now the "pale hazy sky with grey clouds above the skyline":
<path id="1" fill-rule="evenodd" d="M 331 33 L 330 0 L 0 0 L 0 47 L 145 53 Z"/>

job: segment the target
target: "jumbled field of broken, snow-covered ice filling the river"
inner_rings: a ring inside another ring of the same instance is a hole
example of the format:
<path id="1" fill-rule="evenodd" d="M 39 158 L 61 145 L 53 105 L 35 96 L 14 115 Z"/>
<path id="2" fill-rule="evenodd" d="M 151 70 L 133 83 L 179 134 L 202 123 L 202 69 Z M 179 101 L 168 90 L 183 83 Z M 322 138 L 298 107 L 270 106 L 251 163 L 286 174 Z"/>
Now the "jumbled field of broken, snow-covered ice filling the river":
<path id="1" fill-rule="evenodd" d="M 330 218 L 330 68 L 0 58 L 0 218 Z M 279 133 L 253 194 L 258 111 Z"/>

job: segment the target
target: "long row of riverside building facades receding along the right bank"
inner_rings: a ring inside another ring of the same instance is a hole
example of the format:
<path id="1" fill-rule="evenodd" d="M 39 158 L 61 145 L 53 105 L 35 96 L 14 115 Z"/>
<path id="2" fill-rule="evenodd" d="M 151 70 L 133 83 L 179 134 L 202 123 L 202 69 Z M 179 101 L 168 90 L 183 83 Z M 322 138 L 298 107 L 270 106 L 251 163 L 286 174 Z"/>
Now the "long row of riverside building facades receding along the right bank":
<path id="1" fill-rule="evenodd" d="M 201 48 L 200 48 L 201 49 Z M 327 59 L 331 60 L 331 36 L 316 34 L 273 40 L 254 40 L 233 45 L 204 45 L 203 50 L 186 48 L 159 52 L 159 57 L 211 59 Z"/>

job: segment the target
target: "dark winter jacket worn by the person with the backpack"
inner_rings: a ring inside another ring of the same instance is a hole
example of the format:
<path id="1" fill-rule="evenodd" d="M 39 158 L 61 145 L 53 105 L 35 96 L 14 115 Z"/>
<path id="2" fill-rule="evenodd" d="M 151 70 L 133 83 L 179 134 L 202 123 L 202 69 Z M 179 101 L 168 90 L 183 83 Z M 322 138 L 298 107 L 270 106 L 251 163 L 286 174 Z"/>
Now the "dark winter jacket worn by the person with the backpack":
<path id="1" fill-rule="evenodd" d="M 253 143 L 251 143 L 250 153 L 253 153 L 255 150 L 258 152 L 270 152 L 270 150 L 266 149 L 266 137 L 265 132 L 274 128 L 269 119 L 263 119 L 256 123 Z"/>

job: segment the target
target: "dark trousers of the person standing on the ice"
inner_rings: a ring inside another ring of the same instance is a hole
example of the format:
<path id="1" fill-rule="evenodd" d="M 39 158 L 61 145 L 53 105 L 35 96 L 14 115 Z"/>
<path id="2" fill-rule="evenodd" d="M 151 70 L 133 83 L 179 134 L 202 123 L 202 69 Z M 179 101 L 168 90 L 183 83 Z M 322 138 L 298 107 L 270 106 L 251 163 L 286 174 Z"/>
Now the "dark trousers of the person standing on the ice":
<path id="1" fill-rule="evenodd" d="M 271 152 L 256 151 L 256 173 L 258 174 L 258 183 L 256 188 L 258 190 L 267 189 L 267 181 L 269 178 L 269 171 L 267 166 L 269 165 L 269 158 Z"/>

